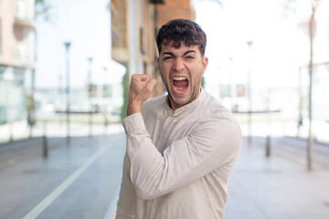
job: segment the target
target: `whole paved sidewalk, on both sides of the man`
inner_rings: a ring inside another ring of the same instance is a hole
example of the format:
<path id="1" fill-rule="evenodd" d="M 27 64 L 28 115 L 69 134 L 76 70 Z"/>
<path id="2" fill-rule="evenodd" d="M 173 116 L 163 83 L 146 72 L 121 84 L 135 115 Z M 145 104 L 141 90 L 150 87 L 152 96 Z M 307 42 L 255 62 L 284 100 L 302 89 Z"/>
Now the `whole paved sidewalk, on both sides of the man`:
<path id="1" fill-rule="evenodd" d="M 32 151 L 2 146 L 0 218 L 22 218 L 45 204 L 58 188 L 65 188 L 38 218 L 110 219 L 120 188 L 125 137 L 122 127 L 109 130 L 107 136 L 75 137 L 69 147 L 63 145 L 65 139 L 50 139 L 48 159 L 42 158 L 41 139 L 29 142 Z M 316 166 L 308 172 L 301 158 L 281 151 L 286 146 L 284 139 L 279 140 L 272 141 L 270 158 L 265 157 L 264 139 L 253 139 L 252 145 L 243 140 L 224 219 L 329 218 L 329 169 Z M 5 162 L 17 154 L 20 159 Z M 77 172 L 79 177 L 68 184 Z"/>

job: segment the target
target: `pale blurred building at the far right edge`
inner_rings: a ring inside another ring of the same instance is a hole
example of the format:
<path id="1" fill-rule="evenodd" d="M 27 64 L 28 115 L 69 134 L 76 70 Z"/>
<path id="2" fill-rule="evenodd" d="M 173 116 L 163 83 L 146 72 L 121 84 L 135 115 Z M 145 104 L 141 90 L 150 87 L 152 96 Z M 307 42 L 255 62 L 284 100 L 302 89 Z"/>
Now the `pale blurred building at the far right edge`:
<path id="1" fill-rule="evenodd" d="M 329 121 L 329 0 L 300 2 L 296 7 L 298 32 L 298 59 L 300 65 L 301 117 L 308 118 L 310 92 L 310 60 L 312 42 L 312 110 L 313 119 Z M 303 5 L 302 5 L 303 4 Z M 313 11 L 313 9 L 314 11 Z M 313 16 L 313 36 L 310 22 Z"/>

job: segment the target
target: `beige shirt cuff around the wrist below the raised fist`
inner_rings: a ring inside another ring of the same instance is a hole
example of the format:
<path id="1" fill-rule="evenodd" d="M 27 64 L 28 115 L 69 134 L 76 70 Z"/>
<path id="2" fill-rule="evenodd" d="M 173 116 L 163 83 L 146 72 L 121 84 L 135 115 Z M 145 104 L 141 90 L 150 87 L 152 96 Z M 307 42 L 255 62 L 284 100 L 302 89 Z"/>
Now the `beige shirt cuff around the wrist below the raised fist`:
<path id="1" fill-rule="evenodd" d="M 146 130 L 145 123 L 143 121 L 143 116 L 140 112 L 133 113 L 132 115 L 124 118 L 122 120 L 122 125 L 126 135 L 131 135 L 135 132 Z"/>

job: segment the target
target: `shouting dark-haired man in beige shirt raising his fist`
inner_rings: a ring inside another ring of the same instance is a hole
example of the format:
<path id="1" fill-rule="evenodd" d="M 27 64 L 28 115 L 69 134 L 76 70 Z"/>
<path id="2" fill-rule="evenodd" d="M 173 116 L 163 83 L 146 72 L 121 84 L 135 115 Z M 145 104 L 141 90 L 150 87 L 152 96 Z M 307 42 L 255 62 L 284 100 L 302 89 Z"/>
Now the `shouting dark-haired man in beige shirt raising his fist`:
<path id="1" fill-rule="evenodd" d="M 206 34 L 176 19 L 159 29 L 156 43 L 168 94 L 148 99 L 155 79 L 133 75 L 116 218 L 222 218 L 241 132 L 232 113 L 201 88 Z"/>

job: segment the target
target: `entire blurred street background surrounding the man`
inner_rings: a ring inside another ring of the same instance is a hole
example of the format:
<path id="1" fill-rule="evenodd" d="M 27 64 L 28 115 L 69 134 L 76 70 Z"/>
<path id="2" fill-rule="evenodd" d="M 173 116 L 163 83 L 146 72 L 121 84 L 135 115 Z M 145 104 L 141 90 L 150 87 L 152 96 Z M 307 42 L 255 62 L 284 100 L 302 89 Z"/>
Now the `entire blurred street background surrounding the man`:
<path id="1" fill-rule="evenodd" d="M 0 0 L 0 218 L 111 218 L 130 77 L 165 94 L 154 37 L 174 18 L 207 33 L 204 89 L 242 128 L 225 218 L 329 218 L 329 0 Z"/>

